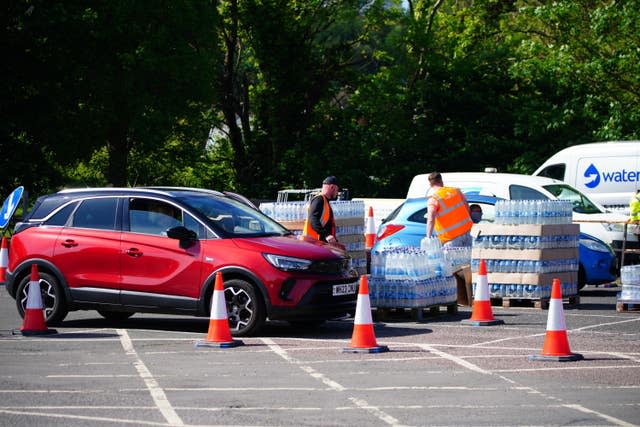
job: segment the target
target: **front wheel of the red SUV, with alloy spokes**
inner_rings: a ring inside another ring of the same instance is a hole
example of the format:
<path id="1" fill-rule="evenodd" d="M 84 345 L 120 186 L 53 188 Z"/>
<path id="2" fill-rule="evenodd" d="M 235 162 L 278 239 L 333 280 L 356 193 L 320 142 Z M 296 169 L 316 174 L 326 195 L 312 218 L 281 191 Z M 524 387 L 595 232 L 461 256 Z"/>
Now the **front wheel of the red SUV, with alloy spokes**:
<path id="1" fill-rule="evenodd" d="M 247 336 L 262 329 L 266 309 L 254 286 L 241 279 L 225 281 L 224 298 L 232 335 Z"/>

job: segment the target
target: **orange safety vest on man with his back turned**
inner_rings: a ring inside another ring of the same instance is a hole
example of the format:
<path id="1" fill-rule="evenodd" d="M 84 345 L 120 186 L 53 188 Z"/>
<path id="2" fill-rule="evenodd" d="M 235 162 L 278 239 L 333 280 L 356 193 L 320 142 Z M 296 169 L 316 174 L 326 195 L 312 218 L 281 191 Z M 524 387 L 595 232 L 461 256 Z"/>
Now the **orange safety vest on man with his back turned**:
<path id="1" fill-rule="evenodd" d="M 442 187 L 431 197 L 440 204 L 433 228 L 442 243 L 453 240 L 471 230 L 473 222 L 460 190 L 453 187 Z"/>

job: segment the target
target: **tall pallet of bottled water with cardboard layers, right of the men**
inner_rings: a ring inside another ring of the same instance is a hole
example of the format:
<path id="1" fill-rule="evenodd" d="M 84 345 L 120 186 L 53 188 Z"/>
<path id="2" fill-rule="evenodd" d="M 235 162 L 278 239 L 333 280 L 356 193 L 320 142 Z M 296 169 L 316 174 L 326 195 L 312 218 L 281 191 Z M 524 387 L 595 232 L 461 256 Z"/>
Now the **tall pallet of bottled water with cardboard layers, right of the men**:
<path id="1" fill-rule="evenodd" d="M 496 204 L 496 223 L 474 226 L 474 289 L 484 260 L 490 296 L 502 298 L 503 306 L 510 299 L 548 300 L 553 279 L 560 280 L 563 297 L 576 296 L 577 302 L 580 226 L 570 223 L 570 206 L 533 200 Z"/>

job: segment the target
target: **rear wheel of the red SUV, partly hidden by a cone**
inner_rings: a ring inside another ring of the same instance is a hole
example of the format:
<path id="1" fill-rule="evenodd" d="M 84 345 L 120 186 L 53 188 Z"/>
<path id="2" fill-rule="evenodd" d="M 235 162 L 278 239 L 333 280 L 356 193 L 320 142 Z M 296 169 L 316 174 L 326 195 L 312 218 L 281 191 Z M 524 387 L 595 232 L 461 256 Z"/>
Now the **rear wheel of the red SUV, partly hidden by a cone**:
<path id="1" fill-rule="evenodd" d="M 24 317 L 24 312 L 27 308 L 30 280 L 31 277 L 29 275 L 23 277 L 16 292 L 16 305 L 21 317 Z M 62 322 L 69 310 L 58 279 L 49 273 L 40 273 L 40 296 L 42 298 L 42 308 L 44 308 L 44 320 L 47 325 L 57 325 Z"/>

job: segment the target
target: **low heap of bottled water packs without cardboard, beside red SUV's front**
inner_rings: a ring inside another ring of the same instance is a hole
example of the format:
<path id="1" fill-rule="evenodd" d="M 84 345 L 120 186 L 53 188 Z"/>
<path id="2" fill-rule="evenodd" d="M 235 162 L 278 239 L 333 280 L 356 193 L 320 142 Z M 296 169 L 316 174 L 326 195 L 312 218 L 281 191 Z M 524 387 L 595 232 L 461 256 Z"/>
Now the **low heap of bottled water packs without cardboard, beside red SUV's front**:
<path id="1" fill-rule="evenodd" d="M 424 308 L 456 302 L 451 262 L 438 239 L 420 248 L 398 247 L 371 253 L 369 298 L 376 308 Z"/>

